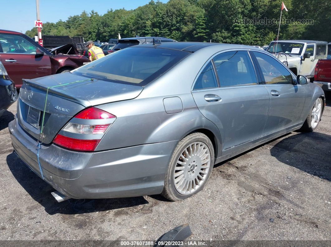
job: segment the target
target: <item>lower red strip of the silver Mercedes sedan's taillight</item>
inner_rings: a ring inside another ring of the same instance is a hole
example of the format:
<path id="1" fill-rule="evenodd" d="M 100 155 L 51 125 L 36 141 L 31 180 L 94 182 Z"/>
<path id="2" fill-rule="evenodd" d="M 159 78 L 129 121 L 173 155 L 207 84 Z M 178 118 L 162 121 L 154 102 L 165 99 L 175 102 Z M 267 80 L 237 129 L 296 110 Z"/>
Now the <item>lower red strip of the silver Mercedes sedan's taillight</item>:
<path id="1" fill-rule="evenodd" d="M 100 139 L 99 140 L 74 139 L 71 137 L 62 136 L 60 134 L 58 134 L 54 139 L 54 143 L 62 147 L 77 151 L 94 151 L 99 141 Z"/>

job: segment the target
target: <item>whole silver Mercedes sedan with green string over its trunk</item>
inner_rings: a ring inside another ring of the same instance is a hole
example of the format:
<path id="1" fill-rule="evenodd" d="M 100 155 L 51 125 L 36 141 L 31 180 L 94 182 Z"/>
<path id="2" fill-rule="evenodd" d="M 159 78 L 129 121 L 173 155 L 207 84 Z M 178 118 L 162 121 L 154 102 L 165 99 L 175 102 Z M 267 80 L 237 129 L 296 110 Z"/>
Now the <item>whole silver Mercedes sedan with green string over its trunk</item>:
<path id="1" fill-rule="evenodd" d="M 324 105 L 320 87 L 262 49 L 169 42 L 24 80 L 9 131 L 58 201 L 176 201 L 201 191 L 214 164 L 313 131 Z"/>

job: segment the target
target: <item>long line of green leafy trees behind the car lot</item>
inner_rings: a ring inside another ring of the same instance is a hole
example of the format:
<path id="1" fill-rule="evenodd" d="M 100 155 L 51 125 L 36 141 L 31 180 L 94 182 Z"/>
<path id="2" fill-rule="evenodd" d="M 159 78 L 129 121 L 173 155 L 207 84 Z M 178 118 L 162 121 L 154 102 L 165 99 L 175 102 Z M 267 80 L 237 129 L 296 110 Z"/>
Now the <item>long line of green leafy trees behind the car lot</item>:
<path id="1" fill-rule="evenodd" d="M 104 15 L 95 11 L 69 16 L 66 21 L 43 23 L 43 35 L 82 36 L 85 40 L 108 41 L 110 38 L 162 36 L 177 41 L 219 42 L 266 45 L 276 39 L 278 24 L 242 23 L 243 19 L 278 19 L 281 3 L 292 19 L 281 25 L 279 39 L 331 41 L 330 0 L 151 0 L 134 10 L 110 9 Z M 298 20 L 313 20 L 313 25 Z M 25 32 L 29 37 L 36 28 Z"/>

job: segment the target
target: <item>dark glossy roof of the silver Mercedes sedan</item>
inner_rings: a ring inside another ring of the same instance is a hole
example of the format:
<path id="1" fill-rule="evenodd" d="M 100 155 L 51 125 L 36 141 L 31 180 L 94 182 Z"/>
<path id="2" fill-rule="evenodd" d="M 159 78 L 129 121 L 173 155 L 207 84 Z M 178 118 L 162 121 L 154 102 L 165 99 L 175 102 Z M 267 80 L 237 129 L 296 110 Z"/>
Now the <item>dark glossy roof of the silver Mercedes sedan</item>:
<path id="1" fill-rule="evenodd" d="M 182 50 L 195 52 L 202 48 L 209 46 L 218 46 L 218 50 L 227 50 L 227 49 L 252 49 L 252 50 L 261 50 L 260 48 L 254 46 L 245 46 L 245 45 L 234 45 L 234 44 L 221 44 L 221 43 L 207 43 L 207 42 L 165 42 L 157 44 L 157 48 L 166 48 L 174 50 Z M 134 47 L 134 46 L 132 46 Z M 151 45 L 139 45 L 139 47 L 151 47 Z"/>

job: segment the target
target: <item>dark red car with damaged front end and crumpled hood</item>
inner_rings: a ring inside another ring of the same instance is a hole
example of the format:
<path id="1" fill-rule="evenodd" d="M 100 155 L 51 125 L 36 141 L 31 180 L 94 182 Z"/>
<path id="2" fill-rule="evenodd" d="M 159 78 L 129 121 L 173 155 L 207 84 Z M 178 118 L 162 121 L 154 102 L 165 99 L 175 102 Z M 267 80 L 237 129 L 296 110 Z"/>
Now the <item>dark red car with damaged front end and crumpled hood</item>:
<path id="1" fill-rule="evenodd" d="M 54 55 L 23 33 L 0 30 L 0 61 L 17 88 L 22 79 L 49 76 L 80 67 L 89 59 L 82 55 Z"/>

